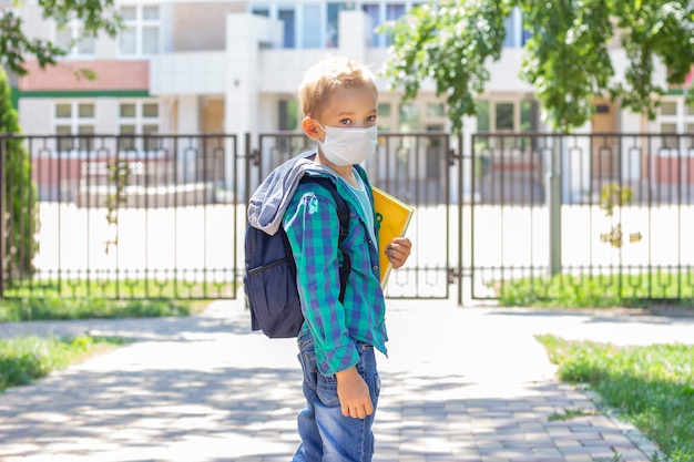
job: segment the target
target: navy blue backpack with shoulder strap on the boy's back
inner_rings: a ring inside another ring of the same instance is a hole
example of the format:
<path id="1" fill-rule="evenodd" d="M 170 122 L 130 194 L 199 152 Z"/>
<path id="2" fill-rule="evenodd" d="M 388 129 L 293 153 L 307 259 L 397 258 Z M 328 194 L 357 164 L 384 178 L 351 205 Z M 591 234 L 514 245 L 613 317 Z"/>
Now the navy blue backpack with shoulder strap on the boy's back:
<path id="1" fill-rule="evenodd" d="M 328 189 L 337 204 L 340 228 L 338 248 L 343 253 L 339 300 L 343 302 L 347 277 L 351 270 L 351 258 L 343 245 L 349 229 L 347 203 L 329 178 L 304 175 L 300 183 L 314 183 Z M 271 236 L 247 225 L 244 247 L 244 291 L 251 310 L 251 329 L 262 330 L 269 338 L 298 336 L 304 324 L 304 314 L 296 287 L 296 263 L 284 227 L 280 226 Z"/>

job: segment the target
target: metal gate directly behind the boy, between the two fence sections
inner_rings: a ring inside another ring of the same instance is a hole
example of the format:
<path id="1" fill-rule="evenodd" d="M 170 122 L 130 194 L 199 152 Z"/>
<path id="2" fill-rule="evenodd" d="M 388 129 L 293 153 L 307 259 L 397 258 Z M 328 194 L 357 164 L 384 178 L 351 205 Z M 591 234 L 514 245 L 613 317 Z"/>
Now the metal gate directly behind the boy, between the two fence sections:
<path id="1" fill-rule="evenodd" d="M 304 134 L 265 133 L 257 144 L 246 137 L 245 197 L 274 167 L 297 153 L 315 148 Z M 461 160 L 446 133 L 379 133 L 374 157 L 365 162 L 372 185 L 415 207 L 407 230 L 412 254 L 392 271 L 389 298 L 449 298 L 461 270 L 458 258 Z"/>

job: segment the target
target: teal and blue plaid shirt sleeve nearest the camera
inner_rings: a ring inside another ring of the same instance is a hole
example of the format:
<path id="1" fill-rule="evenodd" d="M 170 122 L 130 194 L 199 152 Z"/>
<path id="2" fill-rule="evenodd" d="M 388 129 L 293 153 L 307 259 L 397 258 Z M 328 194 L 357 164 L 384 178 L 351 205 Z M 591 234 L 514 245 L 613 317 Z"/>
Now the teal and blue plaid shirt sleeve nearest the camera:
<path id="1" fill-rule="evenodd" d="M 335 201 L 327 191 L 323 195 L 299 186 L 283 226 L 296 260 L 302 308 L 314 337 L 318 368 L 324 374 L 348 369 L 359 357 L 339 301 L 341 256 Z"/>

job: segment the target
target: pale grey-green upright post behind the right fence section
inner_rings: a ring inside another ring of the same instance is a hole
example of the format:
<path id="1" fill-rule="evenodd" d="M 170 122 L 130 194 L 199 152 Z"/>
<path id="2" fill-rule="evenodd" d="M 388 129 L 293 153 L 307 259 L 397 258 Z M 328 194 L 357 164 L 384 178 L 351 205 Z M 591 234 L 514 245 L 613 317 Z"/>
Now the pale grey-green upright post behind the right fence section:
<path id="1" fill-rule="evenodd" d="M 559 140 L 558 140 L 559 138 Z M 559 135 L 554 143 L 547 168 L 547 202 L 550 225 L 549 276 L 561 273 L 561 158 L 564 137 Z"/>

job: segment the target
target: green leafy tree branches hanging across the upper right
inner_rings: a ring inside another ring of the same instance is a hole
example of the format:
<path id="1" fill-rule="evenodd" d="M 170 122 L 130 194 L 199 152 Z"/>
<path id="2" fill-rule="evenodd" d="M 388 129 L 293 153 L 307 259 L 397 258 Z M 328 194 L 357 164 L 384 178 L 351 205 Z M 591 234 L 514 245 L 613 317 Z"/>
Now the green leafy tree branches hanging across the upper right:
<path id="1" fill-rule="evenodd" d="M 501 57 L 504 20 L 513 8 L 522 11 L 530 34 L 520 78 L 534 85 L 555 130 L 590 121 L 593 97 L 604 94 L 653 119 L 666 91 L 653 83 L 655 60 L 667 68 L 671 84 L 684 83 L 694 63 L 690 0 L 440 0 L 380 27 L 392 39 L 382 74 L 404 89 L 405 100 L 432 79 L 460 131 L 462 116 L 476 114 L 474 96 L 490 76 L 487 64 Z M 608 52 L 613 39 L 629 61 L 623 79 L 615 79 Z"/>

